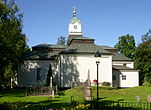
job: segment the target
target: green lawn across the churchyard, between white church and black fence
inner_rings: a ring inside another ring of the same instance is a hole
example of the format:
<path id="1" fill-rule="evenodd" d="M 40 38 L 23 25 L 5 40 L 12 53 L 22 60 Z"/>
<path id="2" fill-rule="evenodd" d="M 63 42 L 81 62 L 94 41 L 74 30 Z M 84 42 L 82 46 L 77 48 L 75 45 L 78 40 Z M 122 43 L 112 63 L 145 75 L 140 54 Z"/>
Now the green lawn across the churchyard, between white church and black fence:
<path id="1" fill-rule="evenodd" d="M 96 87 L 92 87 L 93 97 L 96 98 Z M 99 87 L 99 98 L 109 101 L 136 102 L 136 96 L 140 96 L 141 102 L 147 102 L 147 95 L 151 94 L 151 87 L 133 87 L 127 89 L 116 89 L 112 87 Z M 74 100 L 84 102 L 83 87 L 76 87 L 62 91 L 59 96 L 50 99 L 48 96 L 26 96 L 23 89 L 12 89 L 0 91 L 0 103 L 32 102 L 32 103 L 62 103 L 70 102 L 71 96 Z"/>

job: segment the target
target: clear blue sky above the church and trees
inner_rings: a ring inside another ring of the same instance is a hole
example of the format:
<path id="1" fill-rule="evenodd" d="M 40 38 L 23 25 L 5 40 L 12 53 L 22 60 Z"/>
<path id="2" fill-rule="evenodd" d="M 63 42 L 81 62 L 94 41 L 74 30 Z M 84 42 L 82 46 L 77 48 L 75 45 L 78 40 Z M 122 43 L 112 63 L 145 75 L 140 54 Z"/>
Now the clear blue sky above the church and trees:
<path id="1" fill-rule="evenodd" d="M 24 13 L 23 32 L 30 47 L 56 44 L 68 37 L 73 7 L 82 23 L 85 37 L 97 45 L 114 46 L 118 37 L 135 36 L 136 44 L 151 28 L 151 0 L 15 0 Z"/>

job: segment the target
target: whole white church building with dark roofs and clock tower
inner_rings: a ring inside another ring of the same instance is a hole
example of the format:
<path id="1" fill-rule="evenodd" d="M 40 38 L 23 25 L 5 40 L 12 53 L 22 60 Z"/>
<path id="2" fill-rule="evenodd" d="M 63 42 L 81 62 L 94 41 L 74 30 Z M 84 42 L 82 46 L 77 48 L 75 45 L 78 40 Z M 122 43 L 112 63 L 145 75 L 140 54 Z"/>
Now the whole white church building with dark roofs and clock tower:
<path id="1" fill-rule="evenodd" d="M 18 86 L 46 85 L 49 67 L 53 83 L 59 87 L 79 86 L 87 80 L 88 73 L 94 84 L 97 70 L 100 86 L 103 82 L 114 87 L 139 86 L 139 71 L 134 69 L 134 62 L 119 54 L 116 48 L 96 45 L 94 39 L 83 36 L 81 28 L 74 9 L 73 18 L 68 25 L 67 44 L 40 44 L 32 47 L 18 71 Z M 97 52 L 100 57 L 95 57 Z"/>

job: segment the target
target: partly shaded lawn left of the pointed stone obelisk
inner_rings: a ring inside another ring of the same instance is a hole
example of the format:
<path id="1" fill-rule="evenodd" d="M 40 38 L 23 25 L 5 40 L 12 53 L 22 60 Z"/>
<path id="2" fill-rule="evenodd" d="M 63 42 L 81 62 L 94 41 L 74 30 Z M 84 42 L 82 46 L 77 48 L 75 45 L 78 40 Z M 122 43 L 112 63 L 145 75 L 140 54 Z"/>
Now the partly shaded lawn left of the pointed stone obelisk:
<path id="1" fill-rule="evenodd" d="M 75 100 L 83 101 L 83 91 L 82 88 L 73 88 L 66 91 L 59 92 L 59 96 L 55 96 L 54 99 L 49 96 L 26 96 L 26 91 L 24 89 L 12 89 L 12 90 L 2 90 L 0 91 L 0 103 L 15 103 L 15 102 L 32 102 L 32 103 L 42 103 L 42 102 L 70 102 L 71 96 L 74 96 Z"/>

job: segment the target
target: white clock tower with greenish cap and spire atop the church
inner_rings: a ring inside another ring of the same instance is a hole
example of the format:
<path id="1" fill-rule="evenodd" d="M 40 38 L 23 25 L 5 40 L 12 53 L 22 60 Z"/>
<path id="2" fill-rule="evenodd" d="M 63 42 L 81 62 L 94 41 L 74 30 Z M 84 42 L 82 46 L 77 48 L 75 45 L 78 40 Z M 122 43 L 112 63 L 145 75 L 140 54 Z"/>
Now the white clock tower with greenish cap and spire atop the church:
<path id="1" fill-rule="evenodd" d="M 81 23 L 80 20 L 77 19 L 76 17 L 76 8 L 73 8 L 73 18 L 69 23 L 68 26 L 68 34 L 70 35 L 82 35 L 81 32 Z"/>

